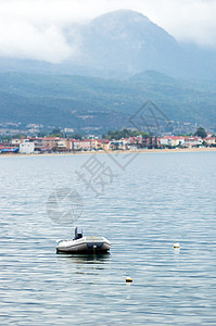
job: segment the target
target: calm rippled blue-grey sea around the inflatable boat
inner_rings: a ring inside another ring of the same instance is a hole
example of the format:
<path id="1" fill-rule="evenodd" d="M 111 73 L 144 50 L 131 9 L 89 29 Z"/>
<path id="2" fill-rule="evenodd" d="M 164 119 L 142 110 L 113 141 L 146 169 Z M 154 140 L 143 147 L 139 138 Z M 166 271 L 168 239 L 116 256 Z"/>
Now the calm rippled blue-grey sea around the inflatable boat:
<path id="1" fill-rule="evenodd" d="M 131 159 L 0 158 L 0 325 L 216 325 L 216 152 Z M 47 213 L 64 189 L 71 225 Z M 111 254 L 56 254 L 76 225 Z"/>

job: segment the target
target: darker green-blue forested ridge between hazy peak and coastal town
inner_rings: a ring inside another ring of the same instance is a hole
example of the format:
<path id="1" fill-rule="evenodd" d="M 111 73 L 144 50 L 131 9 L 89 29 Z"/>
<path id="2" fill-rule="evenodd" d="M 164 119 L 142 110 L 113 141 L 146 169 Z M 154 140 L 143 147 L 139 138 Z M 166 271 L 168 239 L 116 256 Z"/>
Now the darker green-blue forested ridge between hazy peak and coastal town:
<path id="1" fill-rule="evenodd" d="M 148 71 L 124 80 L 87 76 L 0 74 L 0 123 L 107 130 L 151 99 L 171 121 L 216 130 L 216 83 Z"/>

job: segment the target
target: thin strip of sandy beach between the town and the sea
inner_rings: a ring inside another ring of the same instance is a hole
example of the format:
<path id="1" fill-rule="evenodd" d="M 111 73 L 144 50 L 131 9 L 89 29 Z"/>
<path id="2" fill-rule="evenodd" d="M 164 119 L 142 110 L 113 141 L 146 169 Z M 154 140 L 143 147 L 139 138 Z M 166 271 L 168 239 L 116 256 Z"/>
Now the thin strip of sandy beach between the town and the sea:
<path id="1" fill-rule="evenodd" d="M 62 152 L 62 153 L 42 153 L 42 154 L 0 154 L 0 158 L 9 156 L 53 156 L 53 155 L 87 155 L 87 154 L 128 154 L 128 153 L 193 153 L 193 152 L 216 152 L 216 148 L 179 148 L 179 149 L 140 149 L 140 150 L 100 150 L 100 151 L 77 151 L 77 152 Z"/>

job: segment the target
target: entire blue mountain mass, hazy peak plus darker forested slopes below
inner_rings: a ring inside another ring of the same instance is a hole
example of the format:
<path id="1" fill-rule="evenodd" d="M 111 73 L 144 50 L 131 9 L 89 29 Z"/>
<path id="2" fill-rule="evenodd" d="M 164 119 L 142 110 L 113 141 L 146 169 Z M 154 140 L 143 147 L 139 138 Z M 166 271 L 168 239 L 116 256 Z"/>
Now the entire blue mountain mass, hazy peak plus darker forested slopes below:
<path id="1" fill-rule="evenodd" d="M 179 45 L 144 15 L 122 10 L 64 30 L 79 55 L 61 64 L 0 59 L 1 123 L 77 130 L 131 127 L 151 99 L 170 121 L 215 129 L 214 50 Z M 211 80 L 212 79 L 212 80 Z"/>

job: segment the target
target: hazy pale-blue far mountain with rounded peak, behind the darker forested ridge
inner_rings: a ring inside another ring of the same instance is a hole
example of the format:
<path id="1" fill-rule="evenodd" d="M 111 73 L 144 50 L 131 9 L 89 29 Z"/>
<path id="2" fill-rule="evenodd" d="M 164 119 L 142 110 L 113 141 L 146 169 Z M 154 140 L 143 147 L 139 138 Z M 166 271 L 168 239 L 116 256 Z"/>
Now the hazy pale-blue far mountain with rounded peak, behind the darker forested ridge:
<path id="1" fill-rule="evenodd" d="M 141 13 L 119 10 L 63 30 L 79 54 L 61 64 L 34 60 L 0 59 L 0 72 L 31 72 L 125 78 L 144 71 L 173 77 L 216 78 L 216 51 L 180 45 Z M 77 41 L 78 40 L 78 41 Z"/>

